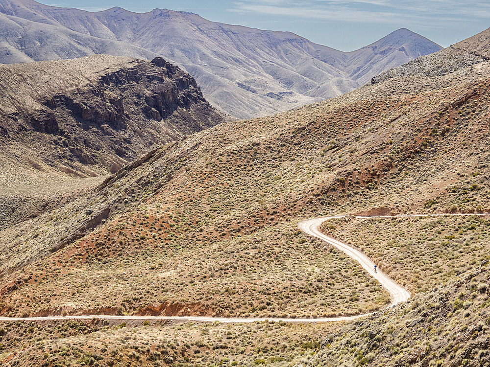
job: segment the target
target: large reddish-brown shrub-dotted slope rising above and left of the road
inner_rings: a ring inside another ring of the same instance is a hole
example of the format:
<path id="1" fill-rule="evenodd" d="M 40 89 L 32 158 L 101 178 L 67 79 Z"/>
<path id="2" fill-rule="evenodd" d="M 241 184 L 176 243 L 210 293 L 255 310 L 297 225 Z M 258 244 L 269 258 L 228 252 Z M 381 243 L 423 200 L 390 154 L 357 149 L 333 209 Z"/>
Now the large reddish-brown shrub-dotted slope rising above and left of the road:
<path id="1" fill-rule="evenodd" d="M 87 197 L 0 233 L 3 313 L 269 317 L 380 308 L 388 300 L 379 286 L 294 222 L 489 210 L 489 70 L 483 62 L 464 73 L 393 78 L 155 149 Z M 444 284 L 455 279 L 443 272 Z"/>

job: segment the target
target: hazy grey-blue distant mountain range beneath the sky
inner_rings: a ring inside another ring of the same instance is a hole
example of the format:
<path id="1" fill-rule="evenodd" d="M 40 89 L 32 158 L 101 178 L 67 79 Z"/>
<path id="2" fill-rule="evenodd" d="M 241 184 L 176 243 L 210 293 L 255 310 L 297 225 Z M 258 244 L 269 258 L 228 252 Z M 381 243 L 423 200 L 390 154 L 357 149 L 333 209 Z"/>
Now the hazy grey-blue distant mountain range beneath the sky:
<path id="1" fill-rule="evenodd" d="M 349 92 L 441 46 L 399 29 L 352 52 L 290 32 L 207 21 L 196 14 L 119 7 L 91 13 L 32 0 L 0 0 L 0 62 L 111 54 L 163 56 L 196 78 L 208 101 L 249 118 Z"/>

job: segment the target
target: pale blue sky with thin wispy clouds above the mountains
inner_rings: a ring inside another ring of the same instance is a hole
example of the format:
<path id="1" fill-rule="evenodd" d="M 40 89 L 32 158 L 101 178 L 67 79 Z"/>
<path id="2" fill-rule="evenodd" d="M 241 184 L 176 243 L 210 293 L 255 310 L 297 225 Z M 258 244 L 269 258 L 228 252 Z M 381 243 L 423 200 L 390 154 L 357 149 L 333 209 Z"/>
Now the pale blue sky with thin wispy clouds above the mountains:
<path id="1" fill-rule="evenodd" d="M 54 0 L 42 3 L 100 11 L 190 11 L 213 22 L 291 31 L 351 51 L 398 28 L 449 46 L 490 27 L 490 0 Z"/>

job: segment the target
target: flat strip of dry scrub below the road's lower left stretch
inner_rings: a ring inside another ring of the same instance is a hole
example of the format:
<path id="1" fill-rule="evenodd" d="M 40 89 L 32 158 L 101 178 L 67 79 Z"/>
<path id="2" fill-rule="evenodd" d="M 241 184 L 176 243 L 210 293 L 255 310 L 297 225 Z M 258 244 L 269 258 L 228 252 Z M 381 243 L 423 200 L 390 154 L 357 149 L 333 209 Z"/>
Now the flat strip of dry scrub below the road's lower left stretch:
<path id="1" fill-rule="evenodd" d="M 292 366 L 342 324 L 21 322 L 2 325 L 3 366 Z M 23 345 L 14 336 L 23 336 Z M 42 341 L 41 343 L 39 343 Z"/>

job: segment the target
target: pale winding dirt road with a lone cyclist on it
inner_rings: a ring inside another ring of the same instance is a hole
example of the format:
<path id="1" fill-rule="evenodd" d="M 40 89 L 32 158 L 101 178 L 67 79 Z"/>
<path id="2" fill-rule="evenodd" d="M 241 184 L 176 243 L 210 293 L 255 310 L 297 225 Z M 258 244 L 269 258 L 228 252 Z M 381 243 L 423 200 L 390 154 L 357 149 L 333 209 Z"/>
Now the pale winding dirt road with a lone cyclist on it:
<path id="1" fill-rule="evenodd" d="M 430 216 L 445 216 L 445 215 L 490 215 L 489 213 L 468 213 L 468 214 L 430 214 Z M 361 266 L 375 279 L 377 279 L 381 285 L 383 285 L 388 292 L 390 292 L 392 302 L 388 307 L 392 307 L 395 304 L 404 302 L 410 298 L 408 293 L 403 287 L 396 284 L 387 275 L 381 271 L 374 271 L 374 263 L 363 252 L 354 249 L 334 238 L 319 231 L 319 226 L 324 221 L 332 218 L 343 218 L 348 215 L 332 216 L 309 219 L 298 223 L 298 227 L 305 233 L 317 237 L 337 249 L 345 252 L 345 254 L 354 260 L 358 261 Z M 408 214 L 408 215 L 392 215 L 392 216 L 354 216 L 355 218 L 372 219 L 372 218 L 408 218 L 408 217 L 420 217 L 427 216 L 427 214 Z M 339 316 L 331 318 L 311 318 L 311 319 L 288 319 L 288 318 L 224 318 L 224 317 L 207 317 L 207 316 L 121 316 L 121 315 L 79 315 L 79 316 L 44 316 L 44 317 L 0 317 L 0 321 L 49 321 L 49 320 L 87 320 L 87 319 L 104 319 L 104 320 L 180 320 L 180 321 L 205 321 L 205 322 L 225 322 L 225 323 L 240 323 L 240 322 L 254 322 L 254 321 L 285 321 L 285 322 L 330 322 L 330 321 L 350 321 L 359 319 L 361 317 L 372 315 L 373 313 L 354 315 L 354 316 Z"/>

